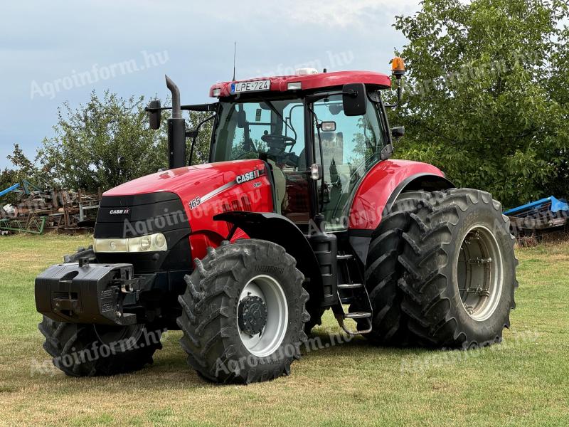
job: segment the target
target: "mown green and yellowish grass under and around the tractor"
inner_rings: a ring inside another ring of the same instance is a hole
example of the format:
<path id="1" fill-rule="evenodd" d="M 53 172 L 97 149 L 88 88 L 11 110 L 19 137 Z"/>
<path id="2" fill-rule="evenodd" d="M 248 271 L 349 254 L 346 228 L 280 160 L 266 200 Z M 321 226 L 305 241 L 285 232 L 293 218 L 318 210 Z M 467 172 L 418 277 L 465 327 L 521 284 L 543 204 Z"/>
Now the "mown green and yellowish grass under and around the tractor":
<path id="1" fill-rule="evenodd" d="M 389 349 L 365 339 L 309 352 L 292 375 L 214 386 L 186 366 L 179 332 L 135 374 L 75 379 L 50 368 L 33 279 L 84 236 L 0 237 L 0 426 L 567 426 L 569 245 L 518 251 L 520 287 L 502 344 Z M 331 315 L 316 330 L 339 333 Z"/>

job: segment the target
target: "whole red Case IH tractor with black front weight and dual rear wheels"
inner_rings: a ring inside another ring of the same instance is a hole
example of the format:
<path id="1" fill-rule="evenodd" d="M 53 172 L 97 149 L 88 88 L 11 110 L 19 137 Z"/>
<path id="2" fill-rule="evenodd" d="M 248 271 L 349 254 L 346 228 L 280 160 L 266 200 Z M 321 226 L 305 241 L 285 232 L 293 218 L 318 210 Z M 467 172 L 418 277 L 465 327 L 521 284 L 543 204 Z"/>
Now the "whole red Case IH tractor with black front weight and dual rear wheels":
<path id="1" fill-rule="evenodd" d="M 403 71 L 395 58 L 398 99 Z M 517 285 L 509 221 L 490 194 L 390 159 L 403 128 L 388 125 L 388 75 L 233 80 L 205 105 L 166 84 L 169 170 L 107 191 L 92 247 L 36 278 L 43 347 L 65 374 L 141 369 L 161 331 L 181 330 L 204 378 L 273 379 L 328 309 L 376 344 L 501 340 Z M 151 101 L 151 128 L 165 109 Z M 183 110 L 211 112 L 208 164 L 188 165 L 199 126 Z"/>

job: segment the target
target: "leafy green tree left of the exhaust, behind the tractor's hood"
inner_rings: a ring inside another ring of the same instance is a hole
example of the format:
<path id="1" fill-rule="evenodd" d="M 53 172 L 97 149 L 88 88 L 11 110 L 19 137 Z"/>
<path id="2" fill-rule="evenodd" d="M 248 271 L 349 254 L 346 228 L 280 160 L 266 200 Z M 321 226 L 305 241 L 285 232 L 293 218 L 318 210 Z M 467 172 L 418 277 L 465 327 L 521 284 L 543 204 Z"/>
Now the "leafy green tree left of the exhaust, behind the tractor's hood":
<path id="1" fill-rule="evenodd" d="M 36 160 L 53 186 L 110 189 L 167 167 L 166 135 L 149 130 L 144 97 L 95 92 L 86 105 L 59 109 L 55 136 L 43 139 Z M 166 114 L 166 113 L 164 113 Z"/>

